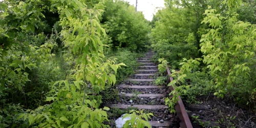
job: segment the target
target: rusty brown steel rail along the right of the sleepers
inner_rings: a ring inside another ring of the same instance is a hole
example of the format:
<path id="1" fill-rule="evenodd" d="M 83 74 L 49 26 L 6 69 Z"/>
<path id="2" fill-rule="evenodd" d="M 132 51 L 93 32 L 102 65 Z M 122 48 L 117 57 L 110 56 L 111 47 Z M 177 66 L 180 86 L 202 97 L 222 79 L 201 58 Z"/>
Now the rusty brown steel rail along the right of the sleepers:
<path id="1" fill-rule="evenodd" d="M 168 73 L 168 76 L 169 76 L 169 79 L 168 81 L 173 81 L 173 77 L 170 76 L 171 73 L 170 73 L 170 70 L 169 70 L 169 67 L 166 66 L 166 69 L 167 69 L 167 73 Z M 169 87 L 170 90 L 175 90 L 172 86 Z M 186 109 L 185 109 L 185 106 L 180 98 L 180 96 L 178 97 L 179 98 L 179 101 L 177 101 L 176 105 L 175 105 L 175 110 L 176 110 L 176 113 L 178 115 L 178 117 L 180 118 L 180 127 L 181 128 L 193 128 L 190 120 L 189 120 L 189 117 L 187 115 L 187 112 L 186 112 Z"/>

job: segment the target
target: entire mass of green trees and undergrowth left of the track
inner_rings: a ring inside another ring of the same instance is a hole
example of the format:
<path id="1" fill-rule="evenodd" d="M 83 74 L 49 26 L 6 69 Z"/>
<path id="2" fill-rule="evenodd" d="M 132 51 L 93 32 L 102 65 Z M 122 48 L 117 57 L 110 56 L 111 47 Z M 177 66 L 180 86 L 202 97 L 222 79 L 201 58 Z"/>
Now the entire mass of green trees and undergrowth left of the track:
<path id="1" fill-rule="evenodd" d="M 100 93 L 133 73 L 150 28 L 111 0 L 6 0 L 0 25 L 1 127 L 109 127 Z"/>

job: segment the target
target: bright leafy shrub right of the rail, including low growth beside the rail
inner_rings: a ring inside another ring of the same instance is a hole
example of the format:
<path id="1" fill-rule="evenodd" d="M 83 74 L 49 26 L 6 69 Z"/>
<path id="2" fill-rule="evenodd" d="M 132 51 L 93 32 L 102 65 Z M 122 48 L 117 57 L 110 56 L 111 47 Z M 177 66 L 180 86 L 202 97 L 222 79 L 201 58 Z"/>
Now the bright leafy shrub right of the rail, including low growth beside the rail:
<path id="1" fill-rule="evenodd" d="M 166 100 L 171 108 L 174 105 L 172 102 L 178 100 L 178 95 L 189 97 L 214 92 L 219 98 L 231 98 L 240 105 L 255 110 L 253 89 L 256 84 L 253 77 L 256 28 L 249 22 L 239 20 L 238 14 L 238 10 L 242 13 L 239 8 L 248 6 L 248 3 L 226 0 L 222 3 L 225 8 L 212 9 L 208 6 L 205 10 L 205 17 L 201 20 L 205 28 L 198 30 L 198 34 L 201 34 L 200 51 L 203 56 L 188 60 L 184 58 L 184 62 L 180 63 L 180 72 L 173 73 L 175 80 L 169 86 L 174 86 L 176 90 L 172 92 L 173 101 Z M 249 17 L 245 20 L 251 19 Z M 186 79 L 192 81 L 185 81 Z M 188 86 L 189 83 L 193 85 Z M 204 92 L 193 91 L 195 88 L 201 88 Z M 189 101 L 193 99 L 195 97 Z"/>

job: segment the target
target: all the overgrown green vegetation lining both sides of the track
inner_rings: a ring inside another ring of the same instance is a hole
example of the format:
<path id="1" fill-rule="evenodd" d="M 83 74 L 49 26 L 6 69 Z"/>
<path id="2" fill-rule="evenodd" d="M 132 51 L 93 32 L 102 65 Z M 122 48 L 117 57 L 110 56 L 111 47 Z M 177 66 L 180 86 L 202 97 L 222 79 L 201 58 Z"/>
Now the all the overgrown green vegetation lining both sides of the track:
<path id="1" fill-rule="evenodd" d="M 195 102 L 213 93 L 255 111 L 255 1 L 165 5 L 150 23 L 119 0 L 0 2 L 0 125 L 109 127 L 102 93 L 133 74 L 149 41 L 161 73 L 167 62 L 180 69 L 168 84 L 170 108 L 179 95 Z"/>

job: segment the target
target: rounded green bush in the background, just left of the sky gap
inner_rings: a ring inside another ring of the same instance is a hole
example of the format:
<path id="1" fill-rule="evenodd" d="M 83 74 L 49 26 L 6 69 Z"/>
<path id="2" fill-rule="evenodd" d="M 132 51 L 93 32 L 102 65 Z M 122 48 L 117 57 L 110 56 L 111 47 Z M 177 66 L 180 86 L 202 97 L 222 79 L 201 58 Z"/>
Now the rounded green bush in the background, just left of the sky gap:
<path id="1" fill-rule="evenodd" d="M 105 24 L 112 38 L 112 49 L 128 48 L 131 51 L 145 49 L 150 26 L 142 12 L 124 1 L 105 1 L 101 23 Z"/>

